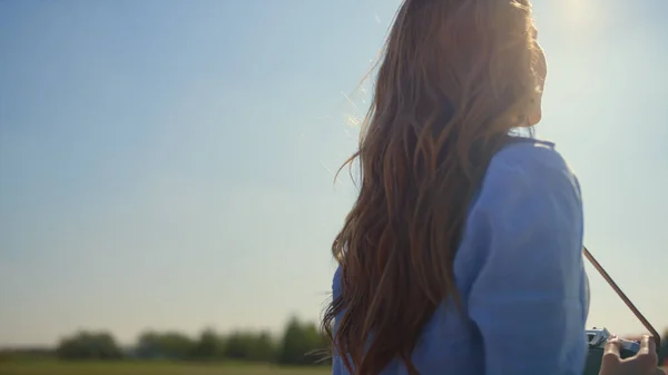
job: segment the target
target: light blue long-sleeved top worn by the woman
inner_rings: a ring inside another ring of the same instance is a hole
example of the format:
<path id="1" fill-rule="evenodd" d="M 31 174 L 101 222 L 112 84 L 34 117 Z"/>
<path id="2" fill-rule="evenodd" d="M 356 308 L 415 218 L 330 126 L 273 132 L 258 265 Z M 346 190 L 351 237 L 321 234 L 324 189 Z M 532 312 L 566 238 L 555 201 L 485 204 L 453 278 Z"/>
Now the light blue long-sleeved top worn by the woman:
<path id="1" fill-rule="evenodd" d="M 420 374 L 581 375 L 582 227 L 577 178 L 552 144 L 499 151 L 471 204 L 454 261 L 468 316 L 453 304 L 438 308 L 413 352 Z M 337 270 L 334 296 L 340 285 Z M 333 374 L 350 374 L 337 355 Z M 401 361 L 381 375 L 394 374 L 407 374 Z"/>

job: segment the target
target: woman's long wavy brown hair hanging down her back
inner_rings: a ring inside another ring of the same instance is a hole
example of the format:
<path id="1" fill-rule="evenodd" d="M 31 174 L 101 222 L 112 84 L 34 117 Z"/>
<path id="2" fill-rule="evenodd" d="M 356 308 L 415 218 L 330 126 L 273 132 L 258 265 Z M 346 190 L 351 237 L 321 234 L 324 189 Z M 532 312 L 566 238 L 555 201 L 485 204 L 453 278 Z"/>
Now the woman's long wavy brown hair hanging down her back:
<path id="1" fill-rule="evenodd" d="M 541 59 L 528 0 L 401 4 L 344 164 L 358 161 L 360 195 L 332 245 L 342 293 L 322 327 L 351 374 L 395 358 L 419 374 L 411 354 L 436 307 L 465 313 L 453 259 L 468 205 L 540 97 Z"/>

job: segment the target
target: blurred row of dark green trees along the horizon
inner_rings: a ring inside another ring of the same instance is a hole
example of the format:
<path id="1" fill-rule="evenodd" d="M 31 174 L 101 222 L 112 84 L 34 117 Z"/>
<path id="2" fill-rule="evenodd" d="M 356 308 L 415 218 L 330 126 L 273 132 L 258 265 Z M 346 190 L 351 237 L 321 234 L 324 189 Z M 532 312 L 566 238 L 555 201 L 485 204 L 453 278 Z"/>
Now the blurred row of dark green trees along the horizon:
<path id="1" fill-rule="evenodd" d="M 178 332 L 145 332 L 129 349 L 108 333 L 80 332 L 60 341 L 61 359 L 242 361 L 284 365 L 330 364 L 325 337 L 313 323 L 292 318 L 283 335 L 238 330 L 219 335 L 205 329 L 198 337 Z"/>

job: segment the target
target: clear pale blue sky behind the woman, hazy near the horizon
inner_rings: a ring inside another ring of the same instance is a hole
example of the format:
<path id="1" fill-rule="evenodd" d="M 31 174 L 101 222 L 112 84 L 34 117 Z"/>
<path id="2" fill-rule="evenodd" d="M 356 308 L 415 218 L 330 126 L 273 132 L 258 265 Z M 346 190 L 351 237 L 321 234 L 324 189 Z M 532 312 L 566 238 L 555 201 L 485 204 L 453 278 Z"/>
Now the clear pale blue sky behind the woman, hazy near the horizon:
<path id="1" fill-rule="evenodd" d="M 668 2 L 536 0 L 539 135 L 586 240 L 668 327 Z M 354 91 L 397 0 L 0 1 L 0 345 L 316 319 Z M 640 332 L 591 274 L 590 325 Z M 540 317 L 537 317 L 540 318 Z"/>

